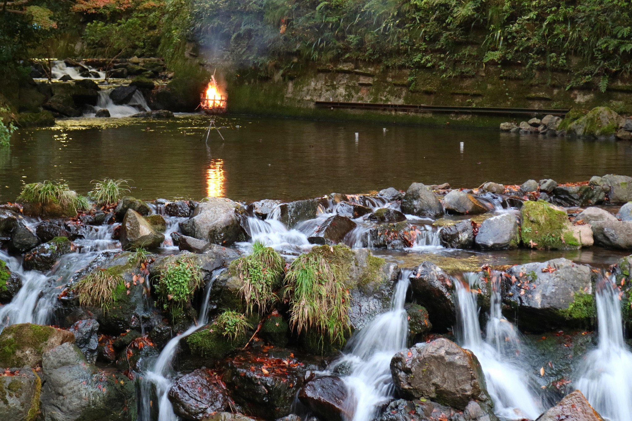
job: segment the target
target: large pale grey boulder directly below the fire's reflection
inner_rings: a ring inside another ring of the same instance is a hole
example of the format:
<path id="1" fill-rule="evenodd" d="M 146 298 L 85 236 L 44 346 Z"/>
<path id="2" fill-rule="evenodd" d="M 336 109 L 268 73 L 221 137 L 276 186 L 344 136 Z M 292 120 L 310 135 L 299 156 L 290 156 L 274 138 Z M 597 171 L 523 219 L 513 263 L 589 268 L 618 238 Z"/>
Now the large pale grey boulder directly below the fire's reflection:
<path id="1" fill-rule="evenodd" d="M 195 206 L 191 218 L 180 222 L 182 234 L 214 244 L 229 246 L 245 239 L 237 211 L 241 205 L 225 198 L 205 198 Z"/>

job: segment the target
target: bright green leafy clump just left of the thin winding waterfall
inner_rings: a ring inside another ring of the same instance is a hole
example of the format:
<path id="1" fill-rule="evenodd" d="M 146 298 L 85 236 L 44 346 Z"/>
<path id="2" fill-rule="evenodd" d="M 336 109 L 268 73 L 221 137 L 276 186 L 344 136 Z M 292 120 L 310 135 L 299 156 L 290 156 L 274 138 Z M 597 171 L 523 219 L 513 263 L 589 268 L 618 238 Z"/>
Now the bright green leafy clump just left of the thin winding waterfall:
<path id="1" fill-rule="evenodd" d="M 156 292 L 163 308 L 172 316 L 182 314 L 185 307 L 191 307 L 195 290 L 202 286 L 202 268 L 191 256 L 183 256 L 167 263 L 160 269 Z"/>

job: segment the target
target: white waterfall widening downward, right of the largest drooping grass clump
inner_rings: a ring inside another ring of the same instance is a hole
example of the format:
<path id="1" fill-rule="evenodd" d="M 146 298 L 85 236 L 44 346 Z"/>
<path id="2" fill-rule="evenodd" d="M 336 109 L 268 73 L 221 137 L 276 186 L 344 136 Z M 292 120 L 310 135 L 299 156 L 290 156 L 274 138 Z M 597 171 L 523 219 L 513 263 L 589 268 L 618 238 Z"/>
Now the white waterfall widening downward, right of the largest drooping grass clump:
<path id="1" fill-rule="evenodd" d="M 393 396 L 391 376 L 393 355 L 406 348 L 408 317 L 404 310 L 410 286 L 410 270 L 401 270 L 391 301 L 391 311 L 375 317 L 356 333 L 347 345 L 348 353 L 336 366 L 348 365 L 349 375 L 342 377 L 349 388 L 347 403 L 353 421 L 372 420 L 379 405 Z"/>

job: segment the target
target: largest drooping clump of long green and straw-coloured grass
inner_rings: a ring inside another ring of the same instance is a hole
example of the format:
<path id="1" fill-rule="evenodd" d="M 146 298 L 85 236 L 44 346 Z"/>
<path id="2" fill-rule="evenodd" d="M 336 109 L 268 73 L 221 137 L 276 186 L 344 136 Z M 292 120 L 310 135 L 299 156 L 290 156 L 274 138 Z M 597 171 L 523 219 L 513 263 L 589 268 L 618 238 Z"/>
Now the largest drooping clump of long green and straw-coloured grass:
<path id="1" fill-rule="evenodd" d="M 289 323 L 298 333 L 314 328 L 343 342 L 349 331 L 349 292 L 322 254 L 301 254 L 289 266 L 285 297 L 289 299 Z"/>

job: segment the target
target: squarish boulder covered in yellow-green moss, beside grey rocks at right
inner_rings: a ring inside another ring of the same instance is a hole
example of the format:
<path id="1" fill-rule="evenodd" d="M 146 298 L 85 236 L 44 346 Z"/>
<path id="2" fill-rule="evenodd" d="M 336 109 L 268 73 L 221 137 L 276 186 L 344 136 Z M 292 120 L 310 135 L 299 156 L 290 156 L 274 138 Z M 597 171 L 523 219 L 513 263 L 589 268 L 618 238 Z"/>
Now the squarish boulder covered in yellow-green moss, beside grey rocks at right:
<path id="1" fill-rule="evenodd" d="M 549 250 L 574 250 L 581 247 L 574 237 L 568 213 L 538 200 L 526 201 L 520 211 L 521 239 L 527 247 Z"/>

